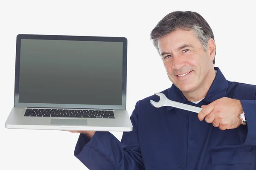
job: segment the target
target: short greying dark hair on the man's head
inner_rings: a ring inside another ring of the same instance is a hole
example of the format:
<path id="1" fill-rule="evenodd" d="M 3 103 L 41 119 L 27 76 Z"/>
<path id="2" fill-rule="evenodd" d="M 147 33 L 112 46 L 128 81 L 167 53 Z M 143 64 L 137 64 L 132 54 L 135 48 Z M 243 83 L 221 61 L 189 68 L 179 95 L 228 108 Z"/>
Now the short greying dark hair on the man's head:
<path id="1" fill-rule="evenodd" d="M 200 14 L 192 11 L 174 11 L 163 17 L 150 33 L 150 38 L 153 40 L 154 46 L 157 48 L 159 54 L 158 39 L 177 29 L 185 31 L 193 30 L 198 40 L 200 40 L 204 51 L 207 50 L 209 39 L 212 38 L 214 40 L 211 27 Z M 212 62 L 215 64 L 215 56 Z"/>

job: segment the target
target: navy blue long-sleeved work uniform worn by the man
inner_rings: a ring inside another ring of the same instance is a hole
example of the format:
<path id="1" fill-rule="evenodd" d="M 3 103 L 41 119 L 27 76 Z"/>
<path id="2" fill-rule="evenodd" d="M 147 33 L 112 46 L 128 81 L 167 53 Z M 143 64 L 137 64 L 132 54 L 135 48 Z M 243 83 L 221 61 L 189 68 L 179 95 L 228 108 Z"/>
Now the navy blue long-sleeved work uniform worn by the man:
<path id="1" fill-rule="evenodd" d="M 75 156 L 90 170 L 256 170 L 256 85 L 230 82 L 218 67 L 205 98 L 189 102 L 173 84 L 168 99 L 201 107 L 230 97 L 241 101 L 247 125 L 220 130 L 199 121 L 198 113 L 173 107 L 154 108 L 152 95 L 138 101 L 131 114 L 133 130 L 121 142 L 109 132 L 91 140 L 80 134 Z"/>

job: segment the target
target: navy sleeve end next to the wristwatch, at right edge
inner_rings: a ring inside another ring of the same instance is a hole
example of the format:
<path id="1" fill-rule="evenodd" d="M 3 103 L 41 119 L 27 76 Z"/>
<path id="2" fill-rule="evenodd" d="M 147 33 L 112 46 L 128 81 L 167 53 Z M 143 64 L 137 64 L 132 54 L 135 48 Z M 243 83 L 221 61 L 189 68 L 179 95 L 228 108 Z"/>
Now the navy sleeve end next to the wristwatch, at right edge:
<path id="1" fill-rule="evenodd" d="M 244 144 L 256 145 L 256 96 L 254 100 L 240 101 L 247 120 L 247 137 Z"/>

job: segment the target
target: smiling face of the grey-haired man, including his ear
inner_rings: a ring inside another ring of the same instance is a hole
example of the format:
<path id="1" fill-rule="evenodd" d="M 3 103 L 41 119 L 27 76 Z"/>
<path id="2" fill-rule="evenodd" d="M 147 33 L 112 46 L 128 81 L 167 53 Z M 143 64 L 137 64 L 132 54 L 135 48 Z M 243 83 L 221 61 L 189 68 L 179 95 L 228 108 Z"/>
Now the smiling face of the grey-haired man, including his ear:
<path id="1" fill-rule="evenodd" d="M 192 92 L 204 86 L 213 68 L 215 43 L 212 39 L 204 51 L 194 31 L 177 30 L 161 37 L 158 48 L 169 79 L 181 91 Z"/>

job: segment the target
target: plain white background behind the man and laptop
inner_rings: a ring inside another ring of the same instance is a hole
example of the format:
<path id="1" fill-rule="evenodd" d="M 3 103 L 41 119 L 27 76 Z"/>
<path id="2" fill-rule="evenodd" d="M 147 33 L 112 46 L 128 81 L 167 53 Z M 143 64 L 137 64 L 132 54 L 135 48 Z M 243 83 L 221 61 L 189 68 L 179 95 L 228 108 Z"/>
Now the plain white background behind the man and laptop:
<path id="1" fill-rule="evenodd" d="M 176 10 L 196 11 L 207 20 L 217 46 L 215 66 L 228 80 L 256 85 L 253 1 L 1 1 L 0 170 L 87 169 L 73 155 L 79 134 L 4 127 L 14 100 L 17 34 L 126 37 L 127 110 L 131 114 L 137 100 L 172 85 L 149 34 L 159 20 Z M 119 140 L 122 137 L 121 132 L 113 134 Z"/>

